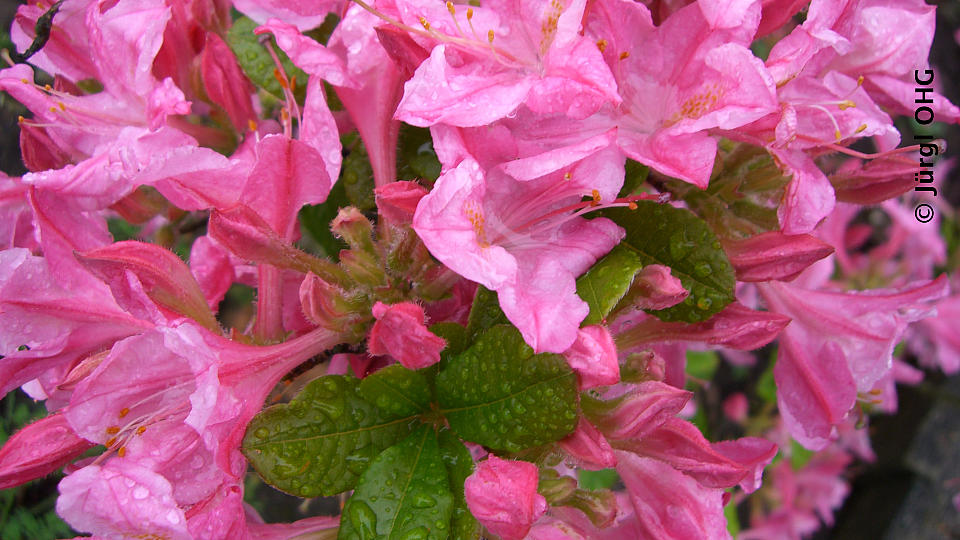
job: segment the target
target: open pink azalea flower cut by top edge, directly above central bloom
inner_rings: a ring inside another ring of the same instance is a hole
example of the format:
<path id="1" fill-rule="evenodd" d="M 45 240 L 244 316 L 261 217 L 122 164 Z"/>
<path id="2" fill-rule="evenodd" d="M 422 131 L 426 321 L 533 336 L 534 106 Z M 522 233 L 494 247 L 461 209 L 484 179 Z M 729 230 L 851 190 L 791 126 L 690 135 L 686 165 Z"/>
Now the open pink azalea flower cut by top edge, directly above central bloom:
<path id="1" fill-rule="evenodd" d="M 400 19 L 425 28 L 429 37 L 420 41 L 432 50 L 406 83 L 396 117 L 416 126 L 468 127 L 521 104 L 585 118 L 619 103 L 603 56 L 579 33 L 585 5 L 497 2 L 448 11 L 429 0 L 397 2 Z"/>

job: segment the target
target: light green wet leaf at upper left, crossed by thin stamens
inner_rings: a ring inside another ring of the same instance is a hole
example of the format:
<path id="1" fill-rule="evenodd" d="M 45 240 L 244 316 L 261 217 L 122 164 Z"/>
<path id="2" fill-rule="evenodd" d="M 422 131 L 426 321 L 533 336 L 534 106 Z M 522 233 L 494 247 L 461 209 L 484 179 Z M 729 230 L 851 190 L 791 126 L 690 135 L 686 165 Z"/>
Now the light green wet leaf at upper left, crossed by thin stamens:
<path id="1" fill-rule="evenodd" d="M 260 44 L 260 37 L 253 33 L 258 26 L 260 25 L 247 17 L 240 17 L 233 21 L 233 26 L 227 32 L 227 45 L 237 56 L 240 68 L 253 81 L 253 84 L 263 88 L 275 98 L 283 100 L 283 87 L 280 86 L 280 81 L 273 76 L 273 71 L 277 66 L 273 63 L 273 58 L 270 57 L 267 49 Z M 287 77 L 291 79 L 295 77 L 300 82 L 295 95 L 297 101 L 302 102 L 307 87 L 307 74 L 294 66 L 287 55 L 280 50 L 280 47 L 274 44 L 273 49 L 276 51 L 277 57 L 280 58 L 280 65 L 283 66 Z"/>

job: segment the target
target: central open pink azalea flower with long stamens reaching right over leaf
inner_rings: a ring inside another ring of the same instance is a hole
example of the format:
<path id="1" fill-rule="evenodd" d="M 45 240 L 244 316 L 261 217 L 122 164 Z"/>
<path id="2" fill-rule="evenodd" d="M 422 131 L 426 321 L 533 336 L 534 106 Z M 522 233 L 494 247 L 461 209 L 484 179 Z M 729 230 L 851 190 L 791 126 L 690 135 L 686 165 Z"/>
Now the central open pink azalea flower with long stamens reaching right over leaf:
<path id="1" fill-rule="evenodd" d="M 414 230 L 447 267 L 497 291 L 534 350 L 562 353 L 589 311 L 576 295 L 576 276 L 623 236 L 607 219 L 587 221 L 565 209 L 584 208 L 581 198 L 598 188 L 616 193 L 622 179 L 597 182 L 580 162 L 566 174 L 519 182 L 482 169 L 453 132 L 435 132 L 441 160 L 453 164 L 420 200 Z"/>

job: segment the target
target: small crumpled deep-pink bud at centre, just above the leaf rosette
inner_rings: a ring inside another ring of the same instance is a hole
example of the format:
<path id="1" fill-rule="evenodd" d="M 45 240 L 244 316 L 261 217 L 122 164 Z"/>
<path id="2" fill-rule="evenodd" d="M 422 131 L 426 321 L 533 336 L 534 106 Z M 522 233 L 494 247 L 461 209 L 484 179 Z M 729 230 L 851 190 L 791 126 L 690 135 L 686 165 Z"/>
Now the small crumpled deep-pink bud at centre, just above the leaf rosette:
<path id="1" fill-rule="evenodd" d="M 370 330 L 367 351 L 389 354 L 408 369 L 432 366 L 440 361 L 440 351 L 447 342 L 431 333 L 424 325 L 423 308 L 411 302 L 373 306 L 377 322 Z"/>

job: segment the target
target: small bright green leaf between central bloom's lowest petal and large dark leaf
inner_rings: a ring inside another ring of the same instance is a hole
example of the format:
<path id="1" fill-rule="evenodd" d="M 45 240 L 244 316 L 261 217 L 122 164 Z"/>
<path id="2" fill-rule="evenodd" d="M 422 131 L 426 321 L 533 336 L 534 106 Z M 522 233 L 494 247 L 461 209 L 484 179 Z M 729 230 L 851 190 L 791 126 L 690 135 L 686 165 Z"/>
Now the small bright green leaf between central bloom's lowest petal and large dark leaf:
<path id="1" fill-rule="evenodd" d="M 636 252 L 617 246 L 577 279 L 577 296 L 590 306 L 583 325 L 599 324 L 630 289 L 643 268 Z"/>

